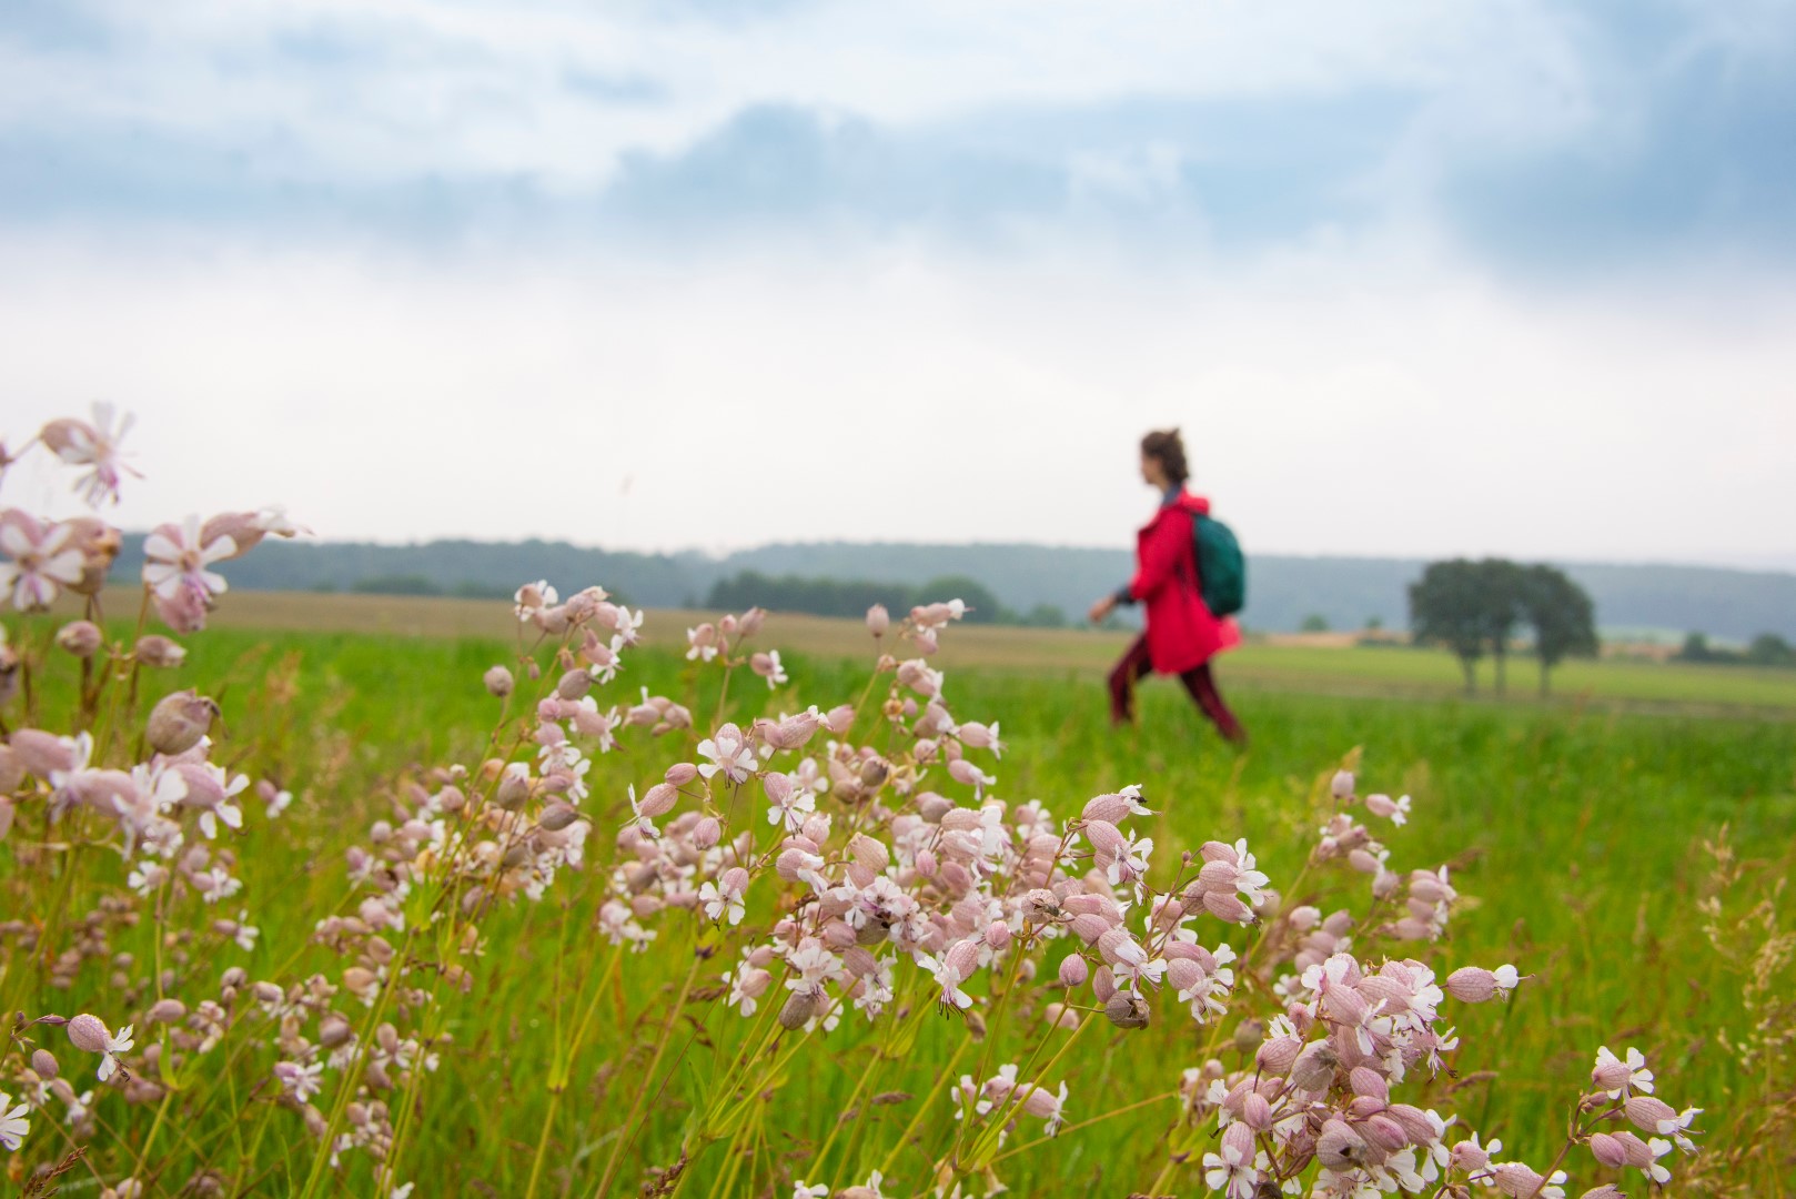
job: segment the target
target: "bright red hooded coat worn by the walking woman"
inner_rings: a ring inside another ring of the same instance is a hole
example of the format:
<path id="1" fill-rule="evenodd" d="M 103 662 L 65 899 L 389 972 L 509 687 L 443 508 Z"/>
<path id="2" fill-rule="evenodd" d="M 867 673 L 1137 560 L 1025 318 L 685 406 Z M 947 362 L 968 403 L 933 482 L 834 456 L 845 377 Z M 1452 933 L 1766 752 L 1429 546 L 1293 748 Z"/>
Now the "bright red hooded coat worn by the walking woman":
<path id="1" fill-rule="evenodd" d="M 1135 577 L 1128 593 L 1144 606 L 1148 660 L 1157 674 L 1184 674 L 1241 644 L 1239 626 L 1212 617 L 1198 590 L 1193 518 L 1209 511 L 1209 500 L 1182 491 L 1135 534 Z"/>

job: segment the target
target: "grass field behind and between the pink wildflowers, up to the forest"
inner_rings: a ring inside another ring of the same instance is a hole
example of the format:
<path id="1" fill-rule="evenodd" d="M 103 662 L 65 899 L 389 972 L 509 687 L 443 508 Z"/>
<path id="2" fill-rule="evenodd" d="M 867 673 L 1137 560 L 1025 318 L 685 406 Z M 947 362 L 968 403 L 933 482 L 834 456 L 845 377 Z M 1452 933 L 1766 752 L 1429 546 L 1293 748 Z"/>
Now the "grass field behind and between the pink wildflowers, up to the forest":
<path id="1" fill-rule="evenodd" d="M 286 627 L 242 627 L 248 622 Z M 329 631 L 356 622 L 370 631 Z M 629 658 L 607 694 L 627 701 L 648 687 L 695 712 L 713 710 L 715 676 L 700 676 L 666 649 L 682 640 L 684 622 L 679 613 L 652 615 L 648 629 L 663 647 Z M 497 636 L 469 635 L 487 627 Z M 262 929 L 260 944 L 250 953 L 226 944 L 226 956 L 203 964 L 201 973 L 242 965 L 253 978 L 304 978 L 332 969 L 334 958 L 307 949 L 305 940 L 320 913 L 341 911 L 348 901 L 343 850 L 388 814 L 395 780 L 481 753 L 499 703 L 480 676 L 514 660 L 515 645 L 505 640 L 510 629 L 501 604 L 232 595 L 217 627 L 189 638 L 192 654 L 178 679 L 219 699 L 226 726 L 219 760 L 298 795 L 273 829 L 259 829 L 266 822 L 248 805 L 241 899 Z M 27 627 L 23 640 L 43 635 L 47 626 Z M 819 705 L 860 694 L 871 654 L 858 626 L 774 618 L 760 640 L 787 653 L 792 690 L 769 694 L 749 679 L 735 690 L 738 714 L 776 712 L 792 694 Z M 1733 1154 L 1730 1172 L 1744 1186 L 1681 1194 L 1783 1194 L 1789 1143 L 1767 1141 L 1746 1113 L 1783 1102 L 1776 1097 L 1787 1080 L 1765 1077 L 1765 1062 L 1742 1064 L 1724 1048 L 1751 1023 L 1742 989 L 1753 946 L 1724 937 L 1731 956 L 1717 953 L 1697 902 L 1715 890 L 1701 841 L 1722 827 L 1746 861 L 1726 913 L 1749 908 L 1746 895 L 1767 895 L 1796 865 L 1796 723 L 1762 719 L 1787 715 L 1796 687 L 1735 671 L 1589 663 L 1568 669 L 1561 685 L 1582 688 L 1595 703 L 1467 703 L 1457 697 L 1455 665 L 1442 656 L 1246 647 L 1225 676 L 1254 735 L 1252 748 L 1236 755 L 1164 683 L 1144 688 L 1139 728 L 1112 732 L 1099 672 L 1115 649 L 1117 640 L 1103 635 L 948 629 L 941 662 L 955 712 L 1000 719 L 1009 742 L 997 768 L 999 795 L 1040 798 L 1054 814 L 1072 814 L 1090 795 L 1140 782 L 1160 811 L 1153 836 L 1162 847 L 1246 836 L 1273 886 L 1282 886 L 1315 839 L 1316 780 L 1363 746 L 1365 789 L 1415 798 L 1413 822 L 1385 838 L 1394 865 L 1455 863 L 1467 895 L 1449 938 L 1419 953 L 1448 967 L 1514 962 L 1532 976 L 1507 1007 L 1457 1014 L 1466 1044 L 1453 1062 L 1457 1079 L 1431 1084 L 1426 1102 L 1451 1104 L 1485 1138 L 1501 1136 L 1510 1154 L 1546 1159 L 1595 1048 L 1638 1044 L 1660 1071 L 1661 1095 L 1710 1111 L 1712 1152 L 1715 1159 Z M 850 653 L 860 662 L 844 658 Z M 1525 671 L 1514 681 L 1525 690 Z M 72 703 L 47 687 L 47 710 Z M 1652 714 L 1625 710 L 1642 703 Z M 1760 715 L 1724 715 L 1730 708 Z M 636 739 L 598 762 L 587 802 L 600 829 L 596 854 L 627 816 L 625 786 L 641 791 L 677 757 L 677 746 Z M 93 863 L 84 875 L 90 901 L 119 886 L 108 877 L 106 865 Z M 0 893 L 18 895 L 27 883 L 11 865 L 0 866 Z M 418 1122 L 404 1149 L 399 1177 L 418 1179 L 420 1194 L 524 1194 L 539 1143 L 550 1163 L 539 1194 L 593 1194 L 614 1149 L 620 1109 L 645 1088 L 654 1102 L 612 1194 L 634 1194 L 645 1170 L 679 1158 L 693 1104 L 717 1086 L 749 1021 L 717 1001 L 690 999 L 675 1008 L 672 1057 L 656 1057 L 652 1034 L 675 999 L 682 962 L 699 946 L 690 922 L 670 922 L 650 955 L 630 958 L 623 974 L 607 973 L 611 951 L 587 931 L 600 883 L 589 872 L 548 901 L 489 922 L 483 971 L 467 996 L 451 994 L 445 1003 L 444 1030 L 454 1039 L 417 1100 Z M 1329 910 L 1360 892 L 1363 875 L 1340 875 L 1288 899 Z M 1787 917 L 1776 920 L 1789 928 Z M 131 931 L 120 931 L 113 949 L 154 951 Z M 70 999 L 41 974 L 27 983 L 18 969 L 7 973 L 0 998 L 7 1010 L 34 1012 L 63 1010 Z M 75 998 L 92 1010 L 120 1003 L 104 971 L 83 974 Z M 542 1080 L 557 1070 L 571 1012 L 587 1003 L 598 1003 L 600 1028 L 571 1062 L 569 1100 L 551 1100 Z M 681 1194 L 787 1199 L 796 1176 L 826 1176 L 832 1186 L 858 1183 L 918 1116 L 961 1039 L 959 1021 L 929 1019 L 905 1055 L 884 1061 L 873 1055 L 866 1026 L 844 1021 L 803 1068 L 767 1080 L 754 1127 L 770 1141 L 751 1145 L 747 1176 L 724 1174 L 718 1147 L 688 1167 L 693 1185 Z M 995 1052 L 1018 1055 L 1018 1046 Z M 1169 1093 L 1205 1048 L 1178 1019 L 1131 1034 L 1103 1028 L 1094 1046 L 1065 1071 L 1072 1122 Z M 819 1143 L 875 1070 L 876 1089 L 903 1098 L 866 1107 L 851 1138 L 839 1138 L 833 1154 L 815 1161 Z M 151 1194 L 180 1194 L 190 1174 L 221 1158 L 239 1163 L 233 1190 L 224 1194 L 296 1192 L 313 1152 L 298 1120 L 269 1104 L 248 1107 L 260 1125 L 224 1120 L 205 1109 L 201 1095 L 203 1088 L 181 1097 L 192 1111 L 174 1107 L 185 1113 L 180 1140 L 162 1132 L 172 1165 Z M 920 1194 L 930 1138 L 941 1136 L 932 1129 L 952 1129 L 945 1100 L 934 1104 L 918 1143 L 893 1158 L 887 1195 Z M 1020 1195 L 1128 1194 L 1162 1167 L 1160 1134 L 1173 1111 L 1162 1100 L 1133 1116 L 1074 1127 L 1047 1149 L 1006 1159 L 1002 1179 Z M 117 1177 L 131 1163 L 131 1150 L 120 1156 L 117 1145 L 142 1147 L 158 1116 L 120 1106 L 106 1109 L 106 1120 L 115 1140 L 97 1147 L 92 1161 L 99 1174 Z M 255 1147 L 242 1154 L 250 1138 Z M 1202 1192 L 1196 1168 L 1175 1185 L 1180 1195 Z M 339 1194 L 372 1194 L 368 1186 L 368 1167 L 352 1163 Z"/>

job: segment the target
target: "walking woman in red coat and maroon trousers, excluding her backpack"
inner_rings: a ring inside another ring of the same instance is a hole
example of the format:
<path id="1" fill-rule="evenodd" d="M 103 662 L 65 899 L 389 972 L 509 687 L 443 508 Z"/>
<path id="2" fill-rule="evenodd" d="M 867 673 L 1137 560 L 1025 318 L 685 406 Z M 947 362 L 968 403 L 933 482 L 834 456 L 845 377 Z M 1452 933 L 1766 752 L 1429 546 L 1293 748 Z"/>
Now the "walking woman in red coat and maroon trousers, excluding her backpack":
<path id="1" fill-rule="evenodd" d="M 1087 613 L 1097 624 L 1117 604 L 1146 604 L 1146 629 L 1110 672 L 1110 723 L 1133 719 L 1139 679 L 1149 672 L 1176 674 L 1216 732 L 1237 746 L 1246 744 L 1246 730 L 1223 703 L 1211 674 L 1211 658 L 1239 645 L 1241 629 L 1203 606 L 1193 521 L 1209 514 L 1211 502 L 1185 491 L 1191 473 L 1178 430 L 1140 439 L 1140 476 L 1160 493 L 1160 511 L 1135 537 L 1135 577 Z"/>

